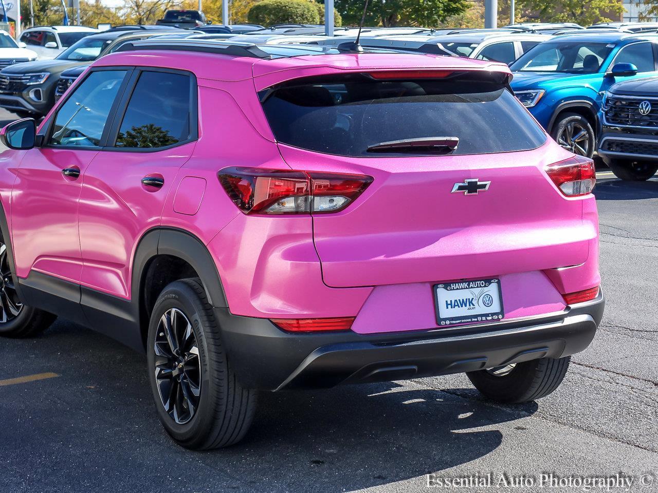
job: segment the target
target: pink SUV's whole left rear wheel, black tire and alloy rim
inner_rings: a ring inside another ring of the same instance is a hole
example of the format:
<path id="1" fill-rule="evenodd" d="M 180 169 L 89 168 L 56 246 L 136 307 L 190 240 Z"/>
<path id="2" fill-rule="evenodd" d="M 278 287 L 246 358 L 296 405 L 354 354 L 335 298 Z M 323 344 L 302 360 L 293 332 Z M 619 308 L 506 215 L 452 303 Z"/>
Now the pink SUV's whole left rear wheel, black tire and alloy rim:
<path id="1" fill-rule="evenodd" d="M 158 297 L 147 361 L 158 416 L 178 444 L 209 450 L 242 440 L 253 421 L 257 393 L 238 382 L 199 279 L 175 281 Z"/>

